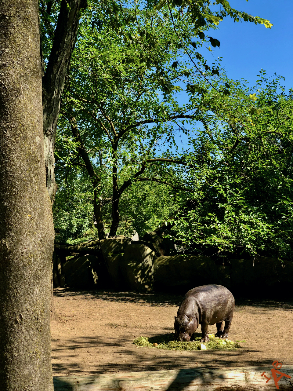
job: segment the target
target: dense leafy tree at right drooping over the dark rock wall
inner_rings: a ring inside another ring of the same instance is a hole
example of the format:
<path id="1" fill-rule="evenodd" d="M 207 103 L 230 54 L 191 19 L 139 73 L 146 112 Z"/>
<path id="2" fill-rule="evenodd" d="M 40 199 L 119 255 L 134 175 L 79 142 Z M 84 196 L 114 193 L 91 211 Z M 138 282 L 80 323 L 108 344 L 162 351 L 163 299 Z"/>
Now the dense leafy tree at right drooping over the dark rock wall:
<path id="1" fill-rule="evenodd" d="M 258 76 L 252 89 L 229 81 L 225 99 L 203 99 L 206 126 L 194 140 L 202 175 L 193 208 L 169 222 L 198 253 L 214 248 L 222 257 L 244 251 L 291 259 L 292 91 L 286 96 L 280 78 L 270 81 L 263 70 Z"/>

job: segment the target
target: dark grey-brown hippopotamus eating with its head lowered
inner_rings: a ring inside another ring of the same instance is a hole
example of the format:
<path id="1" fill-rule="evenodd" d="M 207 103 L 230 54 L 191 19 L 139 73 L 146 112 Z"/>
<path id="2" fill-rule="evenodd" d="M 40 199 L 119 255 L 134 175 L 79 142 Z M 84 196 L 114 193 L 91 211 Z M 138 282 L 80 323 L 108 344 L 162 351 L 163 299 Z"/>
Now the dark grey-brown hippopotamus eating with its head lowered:
<path id="1" fill-rule="evenodd" d="M 175 316 L 175 338 L 177 341 L 193 341 L 194 332 L 201 325 L 200 342 L 208 342 L 207 328 L 215 323 L 216 337 L 227 338 L 234 308 L 232 293 L 222 285 L 202 285 L 191 289 L 184 296 Z"/>

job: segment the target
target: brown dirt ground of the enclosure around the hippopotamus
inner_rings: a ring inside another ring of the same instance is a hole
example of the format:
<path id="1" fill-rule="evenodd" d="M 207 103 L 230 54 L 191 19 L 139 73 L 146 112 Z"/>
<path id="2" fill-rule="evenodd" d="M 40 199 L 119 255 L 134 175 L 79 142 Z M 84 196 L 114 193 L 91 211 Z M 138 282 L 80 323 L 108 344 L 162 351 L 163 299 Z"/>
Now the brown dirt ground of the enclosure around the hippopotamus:
<path id="1" fill-rule="evenodd" d="M 236 300 L 229 339 L 244 339 L 241 349 L 184 352 L 132 344 L 140 335 L 173 333 L 182 296 L 62 288 L 54 296 L 63 318 L 51 323 L 54 376 L 293 364 L 293 301 Z"/>

